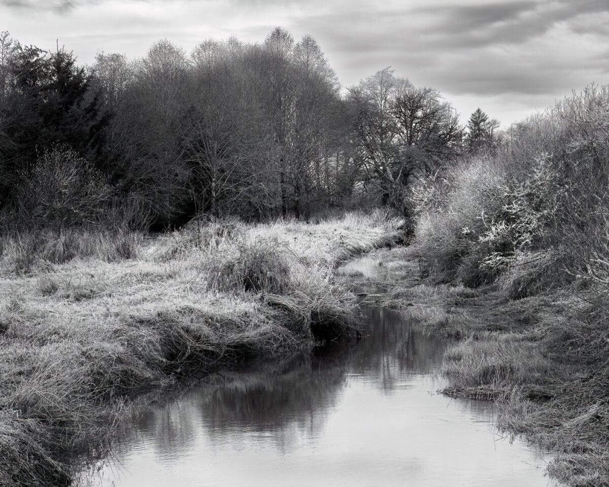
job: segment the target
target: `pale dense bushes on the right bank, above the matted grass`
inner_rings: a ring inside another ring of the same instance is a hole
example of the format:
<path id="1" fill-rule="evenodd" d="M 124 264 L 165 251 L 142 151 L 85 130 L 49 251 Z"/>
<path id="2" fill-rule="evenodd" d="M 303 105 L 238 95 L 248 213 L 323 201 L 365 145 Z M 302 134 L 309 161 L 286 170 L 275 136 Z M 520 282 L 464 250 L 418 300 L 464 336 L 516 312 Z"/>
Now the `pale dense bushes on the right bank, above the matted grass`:
<path id="1" fill-rule="evenodd" d="M 513 298 L 602 283 L 608 105 L 606 86 L 573 94 L 414 192 L 417 248 L 437 279 L 499 279 Z"/>

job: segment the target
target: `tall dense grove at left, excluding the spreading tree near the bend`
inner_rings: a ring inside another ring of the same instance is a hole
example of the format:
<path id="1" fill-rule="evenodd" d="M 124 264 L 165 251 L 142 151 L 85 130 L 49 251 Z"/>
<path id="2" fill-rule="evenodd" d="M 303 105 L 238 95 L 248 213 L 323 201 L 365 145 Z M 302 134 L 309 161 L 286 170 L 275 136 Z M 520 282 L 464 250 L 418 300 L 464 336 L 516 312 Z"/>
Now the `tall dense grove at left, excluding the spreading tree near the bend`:
<path id="1" fill-rule="evenodd" d="M 163 40 L 143 58 L 99 54 L 89 67 L 2 33 L 0 208 L 30 223 L 21 189 L 55 177 L 61 149 L 138 201 L 147 223 L 298 217 L 353 190 L 347 119 L 320 47 L 282 29 L 261 44 L 206 40 L 190 55 Z"/>

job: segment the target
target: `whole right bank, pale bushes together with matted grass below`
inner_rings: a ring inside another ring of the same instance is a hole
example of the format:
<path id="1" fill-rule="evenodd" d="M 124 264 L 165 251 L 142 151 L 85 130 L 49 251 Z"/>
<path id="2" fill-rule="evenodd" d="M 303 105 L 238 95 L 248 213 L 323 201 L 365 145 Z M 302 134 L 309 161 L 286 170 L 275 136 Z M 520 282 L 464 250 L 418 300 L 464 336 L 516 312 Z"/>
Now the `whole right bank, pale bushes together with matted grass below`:
<path id="1" fill-rule="evenodd" d="M 514 125 L 415 192 L 415 252 L 447 298 L 451 394 L 499 399 L 499 424 L 552 448 L 568 485 L 607 485 L 609 88 Z"/>

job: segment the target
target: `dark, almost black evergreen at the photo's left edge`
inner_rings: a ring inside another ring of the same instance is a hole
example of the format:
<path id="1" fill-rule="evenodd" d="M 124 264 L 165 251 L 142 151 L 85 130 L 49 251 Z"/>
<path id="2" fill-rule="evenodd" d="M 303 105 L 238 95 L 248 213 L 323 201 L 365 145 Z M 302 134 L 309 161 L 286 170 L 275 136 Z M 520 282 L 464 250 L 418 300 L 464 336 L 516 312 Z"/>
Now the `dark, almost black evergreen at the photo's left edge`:
<path id="1" fill-rule="evenodd" d="M 10 60 L 2 121 L 6 143 L 0 147 L 4 177 L 0 206 L 39 153 L 66 144 L 105 167 L 104 136 L 110 114 L 102 109 L 91 77 L 76 65 L 71 52 L 49 54 L 38 47 L 19 47 Z"/>

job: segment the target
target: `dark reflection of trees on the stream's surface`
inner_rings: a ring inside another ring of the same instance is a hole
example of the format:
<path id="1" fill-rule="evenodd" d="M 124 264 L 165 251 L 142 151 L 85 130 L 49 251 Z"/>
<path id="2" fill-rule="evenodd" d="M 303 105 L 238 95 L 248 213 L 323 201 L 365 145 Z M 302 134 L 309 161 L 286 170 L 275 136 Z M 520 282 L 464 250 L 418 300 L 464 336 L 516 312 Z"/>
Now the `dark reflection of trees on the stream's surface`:
<path id="1" fill-rule="evenodd" d="M 138 434 L 165 459 L 183 454 L 202 432 L 212 443 L 231 437 L 234 447 L 246 447 L 248 435 L 265 435 L 283 452 L 298 438 L 317 435 L 351 376 L 389 393 L 442 361 L 443 340 L 412 331 L 398 312 L 364 306 L 362 315 L 357 345 L 209 376 L 149 408 Z"/>

